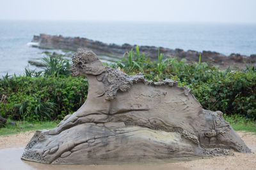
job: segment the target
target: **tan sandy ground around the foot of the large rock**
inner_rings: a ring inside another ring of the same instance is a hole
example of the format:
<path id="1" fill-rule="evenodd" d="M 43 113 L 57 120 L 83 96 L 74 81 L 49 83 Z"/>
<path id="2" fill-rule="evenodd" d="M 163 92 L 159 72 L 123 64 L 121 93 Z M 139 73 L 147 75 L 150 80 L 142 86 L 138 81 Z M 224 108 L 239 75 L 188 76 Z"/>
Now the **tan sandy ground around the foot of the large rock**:
<path id="1" fill-rule="evenodd" d="M 0 149 L 24 147 L 29 142 L 34 132 L 35 131 L 28 131 L 8 136 L 0 136 Z M 253 153 L 234 152 L 234 156 L 214 157 L 212 159 L 199 159 L 154 166 L 90 166 L 89 169 L 256 169 L 256 135 L 251 132 L 242 131 L 237 133 L 241 136 L 246 145 L 252 149 Z M 36 169 L 40 168 L 37 167 Z M 54 169 L 58 168 L 54 167 Z M 63 167 L 61 169 L 63 169 Z"/>

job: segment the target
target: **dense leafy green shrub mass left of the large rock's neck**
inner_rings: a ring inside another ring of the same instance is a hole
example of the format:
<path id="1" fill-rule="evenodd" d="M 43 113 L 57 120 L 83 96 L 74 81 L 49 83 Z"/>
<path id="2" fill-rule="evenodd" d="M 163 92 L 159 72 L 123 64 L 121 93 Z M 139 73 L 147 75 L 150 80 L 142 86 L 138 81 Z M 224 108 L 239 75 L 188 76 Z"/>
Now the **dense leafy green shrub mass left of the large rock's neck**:
<path id="1" fill-rule="evenodd" d="M 56 120 L 76 111 L 86 99 L 88 83 L 82 77 L 12 76 L 0 79 L 2 117 L 13 120 Z"/>

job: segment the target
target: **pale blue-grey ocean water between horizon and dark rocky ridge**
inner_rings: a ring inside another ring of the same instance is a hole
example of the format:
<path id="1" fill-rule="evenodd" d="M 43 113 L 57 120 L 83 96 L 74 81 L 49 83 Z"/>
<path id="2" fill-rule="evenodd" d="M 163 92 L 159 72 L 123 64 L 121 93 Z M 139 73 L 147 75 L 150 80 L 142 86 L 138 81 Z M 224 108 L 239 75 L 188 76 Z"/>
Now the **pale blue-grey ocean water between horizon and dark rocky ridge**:
<path id="1" fill-rule="evenodd" d="M 27 45 L 33 35 L 40 33 L 79 36 L 117 45 L 211 50 L 225 55 L 256 53 L 256 24 L 0 20 L 0 76 L 24 74 L 29 59 L 42 57 L 44 50 Z"/>

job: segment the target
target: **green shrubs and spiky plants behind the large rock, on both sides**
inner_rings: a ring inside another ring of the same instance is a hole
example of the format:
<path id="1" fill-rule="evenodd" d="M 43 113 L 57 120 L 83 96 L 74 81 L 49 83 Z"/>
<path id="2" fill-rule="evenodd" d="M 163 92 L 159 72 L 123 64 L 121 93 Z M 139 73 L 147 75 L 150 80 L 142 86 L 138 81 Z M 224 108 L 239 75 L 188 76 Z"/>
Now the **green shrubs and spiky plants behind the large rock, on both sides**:
<path id="1" fill-rule="evenodd" d="M 60 121 L 84 103 L 88 92 L 86 78 L 70 76 L 68 59 L 56 53 L 46 54 L 49 57 L 42 59 L 47 65 L 43 71 L 26 69 L 24 76 L 6 74 L 0 79 L 0 99 L 7 96 L 0 102 L 1 117 L 28 122 Z M 187 63 L 184 59 L 166 58 L 163 53 L 151 61 L 140 53 L 138 46 L 135 52 L 125 53 L 121 61 L 107 65 L 127 74 L 142 73 L 148 80 L 177 80 L 180 86 L 191 89 L 205 109 L 223 111 L 235 130 L 256 131 L 256 68 L 253 66 L 221 71 L 201 62 L 201 56 L 198 62 Z M 0 134 L 4 133 L 3 129 L 10 126 L 2 128 Z"/>

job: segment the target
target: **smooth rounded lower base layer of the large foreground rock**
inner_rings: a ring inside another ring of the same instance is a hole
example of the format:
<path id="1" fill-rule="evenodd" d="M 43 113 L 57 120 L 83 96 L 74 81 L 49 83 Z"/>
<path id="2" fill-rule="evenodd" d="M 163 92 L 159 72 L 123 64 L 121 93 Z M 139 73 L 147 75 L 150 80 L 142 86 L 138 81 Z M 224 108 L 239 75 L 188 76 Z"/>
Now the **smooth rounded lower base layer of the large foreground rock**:
<path id="1" fill-rule="evenodd" d="M 225 149 L 205 150 L 177 132 L 125 127 L 123 122 L 81 124 L 57 135 L 48 132 L 36 131 L 22 159 L 46 164 L 120 164 L 232 154 Z"/>

